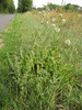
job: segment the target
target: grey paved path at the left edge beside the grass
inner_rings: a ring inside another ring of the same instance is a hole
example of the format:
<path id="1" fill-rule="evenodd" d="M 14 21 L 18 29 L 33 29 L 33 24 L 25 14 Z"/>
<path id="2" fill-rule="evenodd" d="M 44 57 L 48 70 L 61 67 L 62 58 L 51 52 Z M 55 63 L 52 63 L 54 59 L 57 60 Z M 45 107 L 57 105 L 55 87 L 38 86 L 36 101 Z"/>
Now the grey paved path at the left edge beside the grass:
<path id="1" fill-rule="evenodd" d="M 15 14 L 0 14 L 0 32 L 15 16 Z"/>

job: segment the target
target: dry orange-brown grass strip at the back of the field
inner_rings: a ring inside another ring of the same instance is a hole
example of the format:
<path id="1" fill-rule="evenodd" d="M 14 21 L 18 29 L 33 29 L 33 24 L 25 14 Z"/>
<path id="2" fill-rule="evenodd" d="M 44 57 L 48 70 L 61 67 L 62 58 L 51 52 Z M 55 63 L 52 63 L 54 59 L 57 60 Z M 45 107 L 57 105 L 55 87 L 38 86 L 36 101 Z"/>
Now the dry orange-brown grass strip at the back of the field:
<path id="1" fill-rule="evenodd" d="M 35 11 L 33 10 L 32 13 L 31 12 L 25 12 L 24 14 L 27 15 L 27 16 L 33 16 L 35 20 L 38 20 L 39 22 L 44 21 L 44 24 L 46 24 L 46 22 L 48 21 L 49 23 L 55 23 L 57 26 L 60 26 L 62 25 L 63 26 L 63 23 L 60 20 L 65 19 L 66 20 L 66 23 L 65 25 L 67 25 L 66 28 L 81 28 L 82 24 L 81 24 L 81 20 L 82 20 L 82 14 L 80 14 L 79 12 L 66 12 L 66 11 L 62 11 L 60 10 L 60 12 L 57 12 L 57 10 L 55 11 L 46 11 L 46 12 L 43 12 L 40 11 L 42 13 L 39 13 L 39 11 Z M 60 14 L 62 14 L 62 16 L 60 16 Z M 56 18 L 56 21 L 52 22 L 51 19 L 52 18 Z M 60 25 L 59 25 L 59 22 L 60 22 Z"/>

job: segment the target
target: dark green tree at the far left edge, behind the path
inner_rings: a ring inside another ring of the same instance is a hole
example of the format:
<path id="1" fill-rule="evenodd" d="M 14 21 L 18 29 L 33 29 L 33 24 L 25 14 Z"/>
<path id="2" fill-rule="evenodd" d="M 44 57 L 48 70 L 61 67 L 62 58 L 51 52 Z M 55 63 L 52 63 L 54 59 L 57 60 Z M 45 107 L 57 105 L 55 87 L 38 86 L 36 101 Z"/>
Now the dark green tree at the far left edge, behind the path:
<path id="1" fill-rule="evenodd" d="M 13 0 L 0 0 L 0 13 L 14 13 Z"/>

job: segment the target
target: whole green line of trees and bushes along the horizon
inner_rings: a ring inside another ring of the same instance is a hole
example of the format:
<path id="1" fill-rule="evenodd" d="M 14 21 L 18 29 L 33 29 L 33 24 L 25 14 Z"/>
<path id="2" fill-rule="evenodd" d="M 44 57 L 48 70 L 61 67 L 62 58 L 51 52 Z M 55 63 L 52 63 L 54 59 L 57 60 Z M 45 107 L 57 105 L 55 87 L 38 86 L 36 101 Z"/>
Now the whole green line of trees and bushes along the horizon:
<path id="1" fill-rule="evenodd" d="M 38 11 L 42 11 L 42 10 L 48 10 L 48 11 L 51 11 L 51 10 L 57 10 L 59 11 L 60 9 L 61 10 L 65 10 L 65 11 L 69 11 L 69 12 L 82 12 L 82 8 L 80 8 L 79 10 L 79 6 L 78 4 L 71 4 L 71 3 L 68 3 L 68 4 L 63 4 L 63 6 L 58 6 L 58 4 L 52 4 L 52 3 L 47 3 L 47 6 L 44 6 L 43 8 L 35 8 L 33 7 L 33 0 L 19 0 L 19 7 L 15 11 L 15 7 L 14 7 L 14 3 L 13 3 L 13 0 L 0 0 L 0 13 L 14 13 L 14 12 L 26 12 L 26 11 L 31 11 L 32 9 L 33 10 L 38 10 Z"/>

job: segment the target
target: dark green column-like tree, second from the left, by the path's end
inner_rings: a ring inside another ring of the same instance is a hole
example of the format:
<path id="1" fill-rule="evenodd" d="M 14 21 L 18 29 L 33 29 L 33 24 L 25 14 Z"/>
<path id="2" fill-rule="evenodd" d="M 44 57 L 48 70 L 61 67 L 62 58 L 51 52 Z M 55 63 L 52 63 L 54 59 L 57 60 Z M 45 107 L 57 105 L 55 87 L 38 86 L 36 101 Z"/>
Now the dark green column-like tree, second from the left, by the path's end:
<path id="1" fill-rule="evenodd" d="M 19 12 L 26 12 L 32 10 L 33 0 L 19 0 Z"/>

